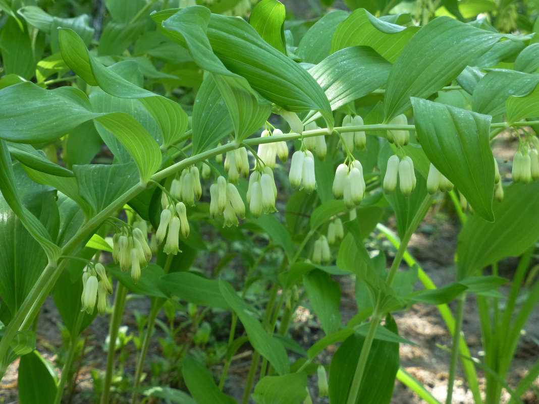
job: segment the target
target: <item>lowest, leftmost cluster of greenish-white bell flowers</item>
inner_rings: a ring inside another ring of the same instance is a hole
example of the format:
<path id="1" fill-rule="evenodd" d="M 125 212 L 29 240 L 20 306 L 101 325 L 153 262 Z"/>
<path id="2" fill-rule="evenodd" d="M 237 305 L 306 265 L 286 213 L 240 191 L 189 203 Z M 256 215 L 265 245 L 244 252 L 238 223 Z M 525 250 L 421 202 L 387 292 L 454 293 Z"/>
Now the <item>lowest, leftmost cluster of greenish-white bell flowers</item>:
<path id="1" fill-rule="evenodd" d="M 81 311 L 92 314 L 97 299 L 98 311 L 102 316 L 107 309 L 107 295 L 112 295 L 112 284 L 108 280 L 105 267 L 98 262 L 88 267 L 82 274 Z"/>

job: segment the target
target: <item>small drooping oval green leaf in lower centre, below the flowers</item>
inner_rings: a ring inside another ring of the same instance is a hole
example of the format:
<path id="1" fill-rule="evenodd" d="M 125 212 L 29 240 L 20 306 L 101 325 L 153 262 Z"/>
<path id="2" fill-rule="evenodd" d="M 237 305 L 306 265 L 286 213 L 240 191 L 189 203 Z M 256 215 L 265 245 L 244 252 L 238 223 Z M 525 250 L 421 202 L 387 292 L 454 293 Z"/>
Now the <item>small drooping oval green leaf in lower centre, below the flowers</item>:
<path id="1" fill-rule="evenodd" d="M 341 303 L 340 285 L 320 269 L 304 275 L 303 285 L 326 335 L 337 331 L 341 326 L 341 314 L 338 311 Z"/>

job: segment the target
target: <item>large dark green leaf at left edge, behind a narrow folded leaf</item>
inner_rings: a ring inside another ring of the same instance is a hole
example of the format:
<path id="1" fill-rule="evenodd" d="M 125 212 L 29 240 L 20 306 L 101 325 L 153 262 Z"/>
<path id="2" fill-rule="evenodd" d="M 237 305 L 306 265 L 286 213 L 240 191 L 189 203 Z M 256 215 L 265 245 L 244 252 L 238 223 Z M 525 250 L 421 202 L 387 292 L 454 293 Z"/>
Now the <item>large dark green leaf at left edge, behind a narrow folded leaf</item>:
<path id="1" fill-rule="evenodd" d="M 56 240 L 58 234 L 59 214 L 54 199 L 56 192 L 34 183 L 20 164 L 11 169 L 11 158 L 7 157 L 9 170 L 4 171 L 3 167 L 0 170 L 0 296 L 2 305 L 13 315 L 47 264 L 46 253 L 39 243 L 43 245 L 47 240 L 50 247 L 45 247 L 60 255 L 51 240 Z M 18 193 L 11 194 L 3 186 L 6 175 L 11 176 L 13 185 L 17 184 Z"/>

